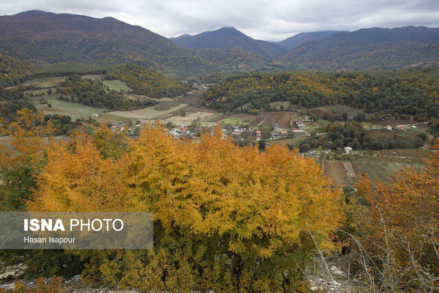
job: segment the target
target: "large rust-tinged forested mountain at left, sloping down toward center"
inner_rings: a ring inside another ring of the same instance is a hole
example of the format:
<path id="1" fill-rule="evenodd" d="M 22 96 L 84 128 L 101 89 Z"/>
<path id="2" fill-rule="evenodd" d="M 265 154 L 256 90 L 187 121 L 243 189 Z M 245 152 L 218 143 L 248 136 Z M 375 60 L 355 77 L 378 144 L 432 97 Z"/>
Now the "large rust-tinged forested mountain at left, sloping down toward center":
<path id="1" fill-rule="evenodd" d="M 187 49 L 137 25 L 112 17 L 28 11 L 0 16 L 4 47 L 47 62 L 116 62 L 128 56 L 151 62 L 155 56 L 187 56 Z"/>

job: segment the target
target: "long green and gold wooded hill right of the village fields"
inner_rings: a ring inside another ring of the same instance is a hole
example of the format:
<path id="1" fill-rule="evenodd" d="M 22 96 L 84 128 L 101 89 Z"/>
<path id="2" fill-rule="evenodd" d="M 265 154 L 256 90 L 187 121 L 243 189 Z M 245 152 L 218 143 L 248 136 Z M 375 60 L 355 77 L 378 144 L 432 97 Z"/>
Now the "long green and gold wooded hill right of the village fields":
<path id="1" fill-rule="evenodd" d="M 439 117 L 438 79 L 438 68 L 244 73 L 211 87 L 206 98 L 211 100 L 211 108 L 222 111 L 276 110 L 270 103 L 288 101 L 305 108 L 345 104 L 366 113 L 412 115 L 418 121 L 426 121 Z"/>

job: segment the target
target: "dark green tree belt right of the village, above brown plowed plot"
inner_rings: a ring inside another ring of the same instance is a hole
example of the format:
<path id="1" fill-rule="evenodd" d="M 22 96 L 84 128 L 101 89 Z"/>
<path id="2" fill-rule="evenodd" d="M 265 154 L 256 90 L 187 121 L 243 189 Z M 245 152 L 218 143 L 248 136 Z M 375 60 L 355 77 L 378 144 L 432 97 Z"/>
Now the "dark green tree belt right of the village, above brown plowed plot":
<path id="1" fill-rule="evenodd" d="M 393 137 L 368 136 L 363 126 L 355 121 L 346 124 L 330 123 L 322 129 L 327 135 L 311 135 L 300 141 L 298 148 L 301 152 L 322 148 L 324 150 L 337 150 L 351 147 L 353 150 L 390 150 L 395 148 L 419 148 L 428 140 L 427 134 L 405 134 Z"/>

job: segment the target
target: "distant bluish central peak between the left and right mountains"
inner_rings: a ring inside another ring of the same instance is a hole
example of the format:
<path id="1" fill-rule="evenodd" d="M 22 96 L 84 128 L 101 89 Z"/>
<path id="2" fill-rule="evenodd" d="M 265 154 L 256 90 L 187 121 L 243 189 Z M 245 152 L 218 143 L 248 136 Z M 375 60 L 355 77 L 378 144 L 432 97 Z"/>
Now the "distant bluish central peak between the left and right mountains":
<path id="1" fill-rule="evenodd" d="M 195 36 L 182 35 L 171 38 L 176 44 L 191 49 L 238 49 L 250 51 L 275 60 L 287 51 L 285 48 L 265 40 L 254 40 L 234 27 L 222 27 L 212 32 L 202 32 Z"/>

